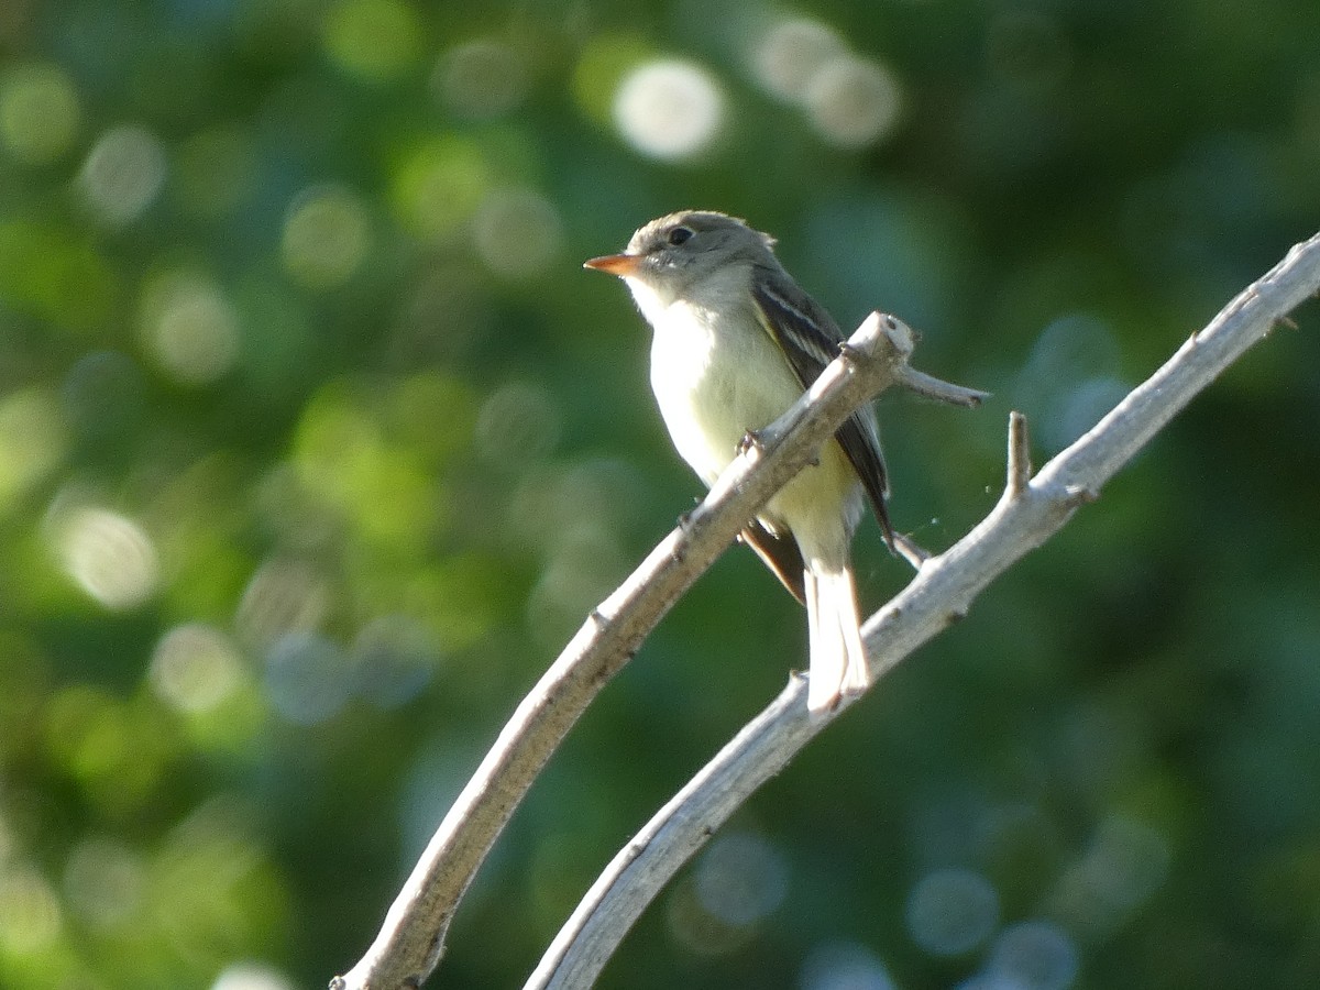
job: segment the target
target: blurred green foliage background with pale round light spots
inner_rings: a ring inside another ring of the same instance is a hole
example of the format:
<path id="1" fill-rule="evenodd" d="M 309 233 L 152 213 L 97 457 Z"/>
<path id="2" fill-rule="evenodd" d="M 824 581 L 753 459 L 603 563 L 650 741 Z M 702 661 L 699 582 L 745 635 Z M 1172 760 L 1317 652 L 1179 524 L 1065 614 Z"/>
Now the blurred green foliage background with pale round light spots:
<path id="1" fill-rule="evenodd" d="M 317 986 L 697 495 L 626 293 L 685 206 L 883 306 L 941 549 L 1320 224 L 1320 5 L 7 0 L 0 986 Z M 832 726 L 605 985 L 1320 985 L 1315 308 Z M 874 527 L 863 598 L 902 586 Z M 525 975 L 804 664 L 722 560 L 451 931 Z"/>

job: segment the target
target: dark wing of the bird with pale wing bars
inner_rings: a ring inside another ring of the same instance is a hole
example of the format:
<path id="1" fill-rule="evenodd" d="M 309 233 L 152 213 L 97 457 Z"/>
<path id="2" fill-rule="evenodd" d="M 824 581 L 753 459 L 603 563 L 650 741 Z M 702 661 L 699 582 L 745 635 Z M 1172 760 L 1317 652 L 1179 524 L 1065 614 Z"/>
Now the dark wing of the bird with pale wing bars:
<path id="1" fill-rule="evenodd" d="M 781 271 L 758 267 L 752 277 L 752 297 L 762 322 L 788 355 L 797 380 L 803 383 L 803 388 L 809 388 L 825 366 L 838 356 L 838 346 L 843 339 L 838 326 L 829 313 Z M 874 413 L 859 409 L 843 421 L 834 437 L 862 479 L 871 508 L 875 510 L 875 519 L 884 532 L 884 541 L 892 550 L 894 527 L 884 502 L 890 486 L 875 433 Z"/>

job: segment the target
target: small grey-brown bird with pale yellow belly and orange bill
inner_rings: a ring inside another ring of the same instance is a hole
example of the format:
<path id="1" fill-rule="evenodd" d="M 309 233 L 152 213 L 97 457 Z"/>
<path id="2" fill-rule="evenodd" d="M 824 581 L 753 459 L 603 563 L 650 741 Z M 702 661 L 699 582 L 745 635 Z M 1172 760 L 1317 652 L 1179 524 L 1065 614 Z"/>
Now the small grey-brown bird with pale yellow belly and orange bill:
<path id="1" fill-rule="evenodd" d="M 639 227 L 623 252 L 585 263 L 620 277 L 651 325 L 651 388 L 678 455 L 708 488 L 843 341 L 774 246 L 738 218 L 682 210 Z M 850 548 L 869 500 L 894 552 L 887 499 L 875 411 L 866 404 L 741 533 L 807 606 L 807 706 L 816 715 L 870 684 Z"/>

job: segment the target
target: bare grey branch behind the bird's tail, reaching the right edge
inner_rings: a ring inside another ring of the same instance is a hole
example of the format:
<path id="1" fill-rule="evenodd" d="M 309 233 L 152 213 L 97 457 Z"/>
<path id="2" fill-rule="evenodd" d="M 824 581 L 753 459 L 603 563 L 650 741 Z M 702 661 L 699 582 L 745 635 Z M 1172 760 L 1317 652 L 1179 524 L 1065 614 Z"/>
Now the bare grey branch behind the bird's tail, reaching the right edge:
<path id="1" fill-rule="evenodd" d="M 995 508 L 928 560 L 865 627 L 871 681 L 964 615 L 995 577 L 1096 498 L 1138 450 L 1247 347 L 1320 289 L 1320 234 L 1295 246 L 1150 379 L 1031 479 L 1026 421 L 1010 420 L 1008 482 Z M 829 719 L 793 680 L 618 854 L 565 923 L 524 990 L 590 986 L 675 873 Z"/>

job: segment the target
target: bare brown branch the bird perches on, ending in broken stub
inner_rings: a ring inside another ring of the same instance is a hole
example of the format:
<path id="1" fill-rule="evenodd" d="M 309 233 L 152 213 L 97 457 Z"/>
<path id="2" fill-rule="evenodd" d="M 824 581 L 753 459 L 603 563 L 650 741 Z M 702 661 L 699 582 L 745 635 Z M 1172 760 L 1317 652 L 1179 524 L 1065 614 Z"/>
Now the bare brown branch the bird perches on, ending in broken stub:
<path id="1" fill-rule="evenodd" d="M 821 444 L 875 393 L 909 380 L 912 331 L 873 313 L 820 379 L 759 433 L 710 494 L 578 630 L 500 731 L 413 867 L 367 954 L 333 990 L 403 990 L 444 953 L 458 902 L 513 809 L 573 723 L 677 598 L 733 543 L 756 510 L 816 458 Z M 921 391 L 969 405 L 983 393 L 920 376 Z"/>

